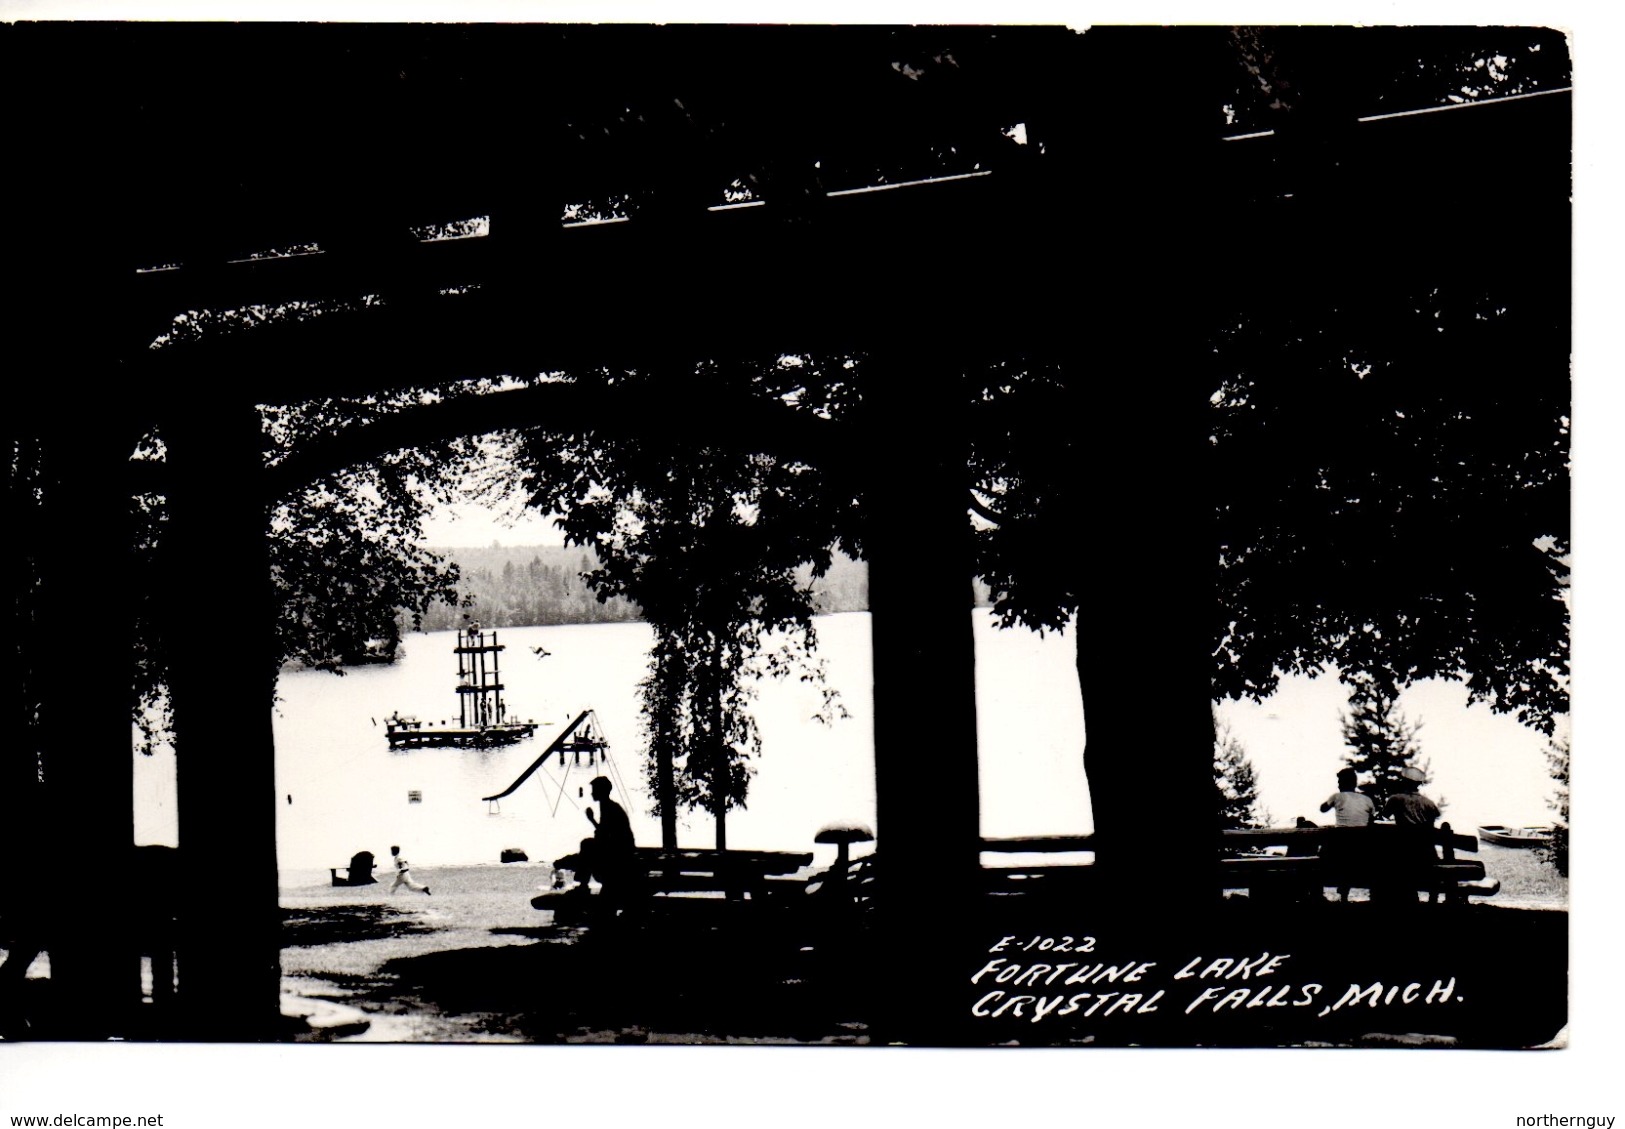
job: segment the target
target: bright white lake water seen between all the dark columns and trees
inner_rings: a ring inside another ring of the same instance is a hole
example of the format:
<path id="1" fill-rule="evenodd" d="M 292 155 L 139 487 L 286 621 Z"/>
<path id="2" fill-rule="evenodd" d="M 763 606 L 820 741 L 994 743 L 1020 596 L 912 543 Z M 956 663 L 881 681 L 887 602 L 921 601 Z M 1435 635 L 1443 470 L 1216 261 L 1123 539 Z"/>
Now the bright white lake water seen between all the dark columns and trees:
<path id="1" fill-rule="evenodd" d="M 869 617 L 817 621 L 829 681 L 850 716 L 826 726 L 812 720 L 819 695 L 796 681 L 759 684 L 762 755 L 748 807 L 728 815 L 731 846 L 814 850 L 812 835 L 832 822 L 874 815 L 874 736 Z M 426 721 L 452 720 L 457 708 L 452 634 L 410 635 L 393 666 L 354 668 L 344 677 L 284 673 L 275 716 L 278 856 L 286 877 L 306 880 L 343 866 L 358 850 L 387 858 L 400 843 L 419 866 L 496 863 L 505 848 L 533 861 L 569 853 L 590 833 L 578 794 L 585 775 L 561 788 L 557 770 L 531 776 L 499 807 L 481 802 L 507 788 L 578 712 L 598 713 L 611 742 L 616 798 L 637 840 L 660 841 L 644 786 L 645 741 L 637 684 L 650 647 L 644 624 L 525 627 L 500 632 L 505 699 L 512 715 L 546 725 L 505 749 L 413 749 L 392 752 L 384 718 L 393 710 Z M 1079 751 L 1084 741 L 1072 634 L 1038 637 L 999 630 L 975 612 L 977 718 L 983 835 L 1064 835 L 1092 830 Z M 551 651 L 538 658 L 531 648 Z M 1477 824 L 1547 822 L 1550 780 L 1544 741 L 1484 705 L 1467 707 L 1456 684 L 1422 684 L 1401 707 L 1422 720 L 1424 755 L 1435 798 L 1459 830 Z M 1258 770 L 1264 806 L 1276 824 L 1318 817 L 1342 759 L 1337 715 L 1347 708 L 1336 679 L 1284 679 L 1264 703 L 1227 703 L 1220 716 L 1243 741 Z M 1147 720 L 1147 726 L 1154 723 Z M 135 759 L 136 841 L 174 843 L 174 759 Z M 418 793 L 421 802 L 411 802 Z M 289 802 L 291 798 L 291 802 Z M 1147 786 L 1147 815 L 1155 788 Z M 710 846 L 708 815 L 684 817 L 684 846 Z M 834 848 L 816 848 L 816 863 Z M 314 872 L 314 876 L 312 876 Z"/>

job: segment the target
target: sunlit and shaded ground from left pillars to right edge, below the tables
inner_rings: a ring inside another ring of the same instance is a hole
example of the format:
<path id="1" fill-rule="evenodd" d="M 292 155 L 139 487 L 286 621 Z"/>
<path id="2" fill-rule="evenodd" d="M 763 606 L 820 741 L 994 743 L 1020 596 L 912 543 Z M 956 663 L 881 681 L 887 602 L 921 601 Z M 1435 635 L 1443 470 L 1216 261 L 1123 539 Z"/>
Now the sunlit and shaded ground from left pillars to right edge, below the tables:
<path id="1" fill-rule="evenodd" d="M 1115 913 L 1082 898 L 967 898 L 920 921 L 902 952 L 827 915 L 717 902 L 557 924 L 530 906 L 546 866 L 424 867 L 432 895 L 284 889 L 283 980 L 288 999 L 338 1009 L 310 1040 L 1560 1043 L 1566 889 L 1528 853 L 1482 856 L 1506 887 L 1492 903 L 1232 898 L 1170 921 L 1154 898 Z M 1004 937 L 1016 941 L 998 947 Z M 1133 965 L 1149 968 L 1121 981 Z M 1095 981 L 1079 980 L 1095 967 Z"/>

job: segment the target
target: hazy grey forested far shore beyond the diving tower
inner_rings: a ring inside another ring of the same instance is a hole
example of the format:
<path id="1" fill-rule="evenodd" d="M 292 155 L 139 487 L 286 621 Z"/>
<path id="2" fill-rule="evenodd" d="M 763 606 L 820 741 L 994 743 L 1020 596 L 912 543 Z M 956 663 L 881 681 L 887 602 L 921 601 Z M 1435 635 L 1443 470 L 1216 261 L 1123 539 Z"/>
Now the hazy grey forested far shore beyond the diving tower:
<path id="1" fill-rule="evenodd" d="M 462 570 L 458 588 L 471 603 L 434 604 L 422 630 L 452 630 L 470 621 L 486 627 L 551 627 L 556 624 L 616 624 L 639 619 L 629 599 L 598 601 L 582 578 L 598 567 L 592 549 L 557 546 L 499 546 L 437 549 Z M 837 556 L 827 575 L 812 583 L 821 612 L 866 611 L 869 570 Z M 466 617 L 466 619 L 465 619 Z M 406 625 L 410 630 L 410 624 Z"/>

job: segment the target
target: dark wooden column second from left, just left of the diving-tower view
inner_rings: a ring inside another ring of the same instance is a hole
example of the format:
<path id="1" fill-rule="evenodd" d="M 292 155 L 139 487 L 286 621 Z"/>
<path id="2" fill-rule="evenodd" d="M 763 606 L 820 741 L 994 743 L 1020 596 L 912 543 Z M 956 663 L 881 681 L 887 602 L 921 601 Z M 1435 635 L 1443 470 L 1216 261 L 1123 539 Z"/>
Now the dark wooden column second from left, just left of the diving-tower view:
<path id="1" fill-rule="evenodd" d="M 185 1036 L 263 1040 L 280 1006 L 273 603 L 260 419 L 221 404 L 164 429 Z"/>

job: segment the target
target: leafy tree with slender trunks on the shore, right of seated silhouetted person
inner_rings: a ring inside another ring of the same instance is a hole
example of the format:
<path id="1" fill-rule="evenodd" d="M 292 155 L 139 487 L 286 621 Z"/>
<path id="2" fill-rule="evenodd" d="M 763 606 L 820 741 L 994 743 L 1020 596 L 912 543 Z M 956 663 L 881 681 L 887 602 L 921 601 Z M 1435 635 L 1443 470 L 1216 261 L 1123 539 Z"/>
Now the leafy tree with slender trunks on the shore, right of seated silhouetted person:
<path id="1" fill-rule="evenodd" d="M 801 357 L 767 366 L 705 366 L 718 400 L 734 404 L 806 395 L 827 377 Z M 838 369 L 837 369 L 838 372 Z M 634 387 L 648 374 L 618 374 Z M 760 736 L 752 684 L 800 673 L 822 681 L 811 578 L 838 543 L 835 502 L 811 463 L 756 452 L 746 442 L 696 443 L 691 435 L 614 434 L 520 439 L 531 504 L 559 513 L 598 601 L 624 596 L 655 632 L 640 686 L 650 781 L 661 838 L 676 845 L 679 806 L 717 820 L 746 802 Z M 809 575 L 806 570 L 811 570 Z M 834 705 L 826 690 L 826 703 Z"/>

